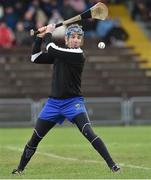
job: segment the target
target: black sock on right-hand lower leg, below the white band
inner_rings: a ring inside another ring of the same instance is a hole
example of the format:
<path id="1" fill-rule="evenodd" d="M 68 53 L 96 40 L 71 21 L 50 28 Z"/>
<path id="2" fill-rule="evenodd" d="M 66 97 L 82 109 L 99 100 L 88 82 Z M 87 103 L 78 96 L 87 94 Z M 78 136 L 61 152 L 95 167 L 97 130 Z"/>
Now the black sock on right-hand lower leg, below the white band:
<path id="1" fill-rule="evenodd" d="M 94 142 L 92 142 L 92 146 L 98 151 L 98 153 L 103 157 L 103 159 L 106 161 L 108 166 L 111 168 L 115 163 L 112 160 L 105 144 L 103 141 L 98 137 Z"/>

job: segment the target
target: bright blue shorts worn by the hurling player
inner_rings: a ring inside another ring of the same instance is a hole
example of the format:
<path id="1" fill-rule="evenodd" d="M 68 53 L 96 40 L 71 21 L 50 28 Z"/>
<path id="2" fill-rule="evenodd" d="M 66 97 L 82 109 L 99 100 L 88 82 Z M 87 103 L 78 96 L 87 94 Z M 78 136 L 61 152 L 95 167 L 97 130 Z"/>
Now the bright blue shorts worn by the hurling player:
<path id="1" fill-rule="evenodd" d="M 87 114 L 83 97 L 48 98 L 39 114 L 39 119 L 62 124 L 65 119 L 72 122 L 73 118 L 80 113 Z"/>

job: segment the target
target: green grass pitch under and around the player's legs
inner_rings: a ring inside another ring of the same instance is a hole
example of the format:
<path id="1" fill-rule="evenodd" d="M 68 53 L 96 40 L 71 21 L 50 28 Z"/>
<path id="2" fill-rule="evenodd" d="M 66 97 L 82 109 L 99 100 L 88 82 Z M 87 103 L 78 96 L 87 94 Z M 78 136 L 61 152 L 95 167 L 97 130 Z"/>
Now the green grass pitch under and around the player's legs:
<path id="1" fill-rule="evenodd" d="M 11 175 L 32 128 L 0 128 L 0 179 L 151 179 L 151 126 L 93 127 L 121 165 L 112 173 L 76 127 L 56 127 L 22 176 Z"/>

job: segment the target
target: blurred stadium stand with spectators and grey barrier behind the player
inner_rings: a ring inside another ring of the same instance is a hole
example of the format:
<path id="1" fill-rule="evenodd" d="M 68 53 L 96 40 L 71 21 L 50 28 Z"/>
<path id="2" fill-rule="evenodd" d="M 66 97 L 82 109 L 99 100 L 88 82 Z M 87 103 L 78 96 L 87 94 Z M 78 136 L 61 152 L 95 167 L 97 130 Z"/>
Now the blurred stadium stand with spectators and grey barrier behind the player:
<path id="1" fill-rule="evenodd" d="M 47 65 L 30 62 L 31 28 L 60 22 L 97 0 L 0 1 L 0 125 L 33 125 L 50 91 Z M 82 90 L 95 124 L 151 123 L 150 1 L 102 1 L 106 21 L 82 22 L 87 63 Z M 63 43 L 64 28 L 54 34 Z M 97 44 L 106 43 L 100 50 Z"/>

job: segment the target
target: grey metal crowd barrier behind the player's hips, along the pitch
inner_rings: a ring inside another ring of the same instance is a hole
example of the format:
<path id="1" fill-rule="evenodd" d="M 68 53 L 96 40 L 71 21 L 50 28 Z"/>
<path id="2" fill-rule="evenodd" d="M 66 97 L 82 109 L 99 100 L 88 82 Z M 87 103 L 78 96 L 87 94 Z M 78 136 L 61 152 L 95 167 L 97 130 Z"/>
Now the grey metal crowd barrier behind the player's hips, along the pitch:
<path id="1" fill-rule="evenodd" d="M 0 127 L 33 126 L 46 100 L 0 99 Z M 95 125 L 151 124 L 151 97 L 85 98 L 85 105 Z"/>

